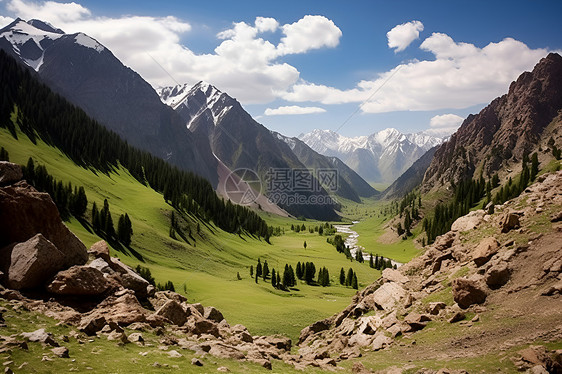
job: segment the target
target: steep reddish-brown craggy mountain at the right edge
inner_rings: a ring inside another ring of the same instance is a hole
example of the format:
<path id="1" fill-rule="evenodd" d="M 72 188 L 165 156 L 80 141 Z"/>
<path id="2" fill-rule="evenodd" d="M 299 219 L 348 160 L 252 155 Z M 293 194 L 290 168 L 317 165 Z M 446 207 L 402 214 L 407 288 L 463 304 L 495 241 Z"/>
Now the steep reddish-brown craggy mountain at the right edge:
<path id="1" fill-rule="evenodd" d="M 476 172 L 489 176 L 533 151 L 562 109 L 562 57 L 551 53 L 512 82 L 435 152 L 422 189 L 446 186 Z"/>

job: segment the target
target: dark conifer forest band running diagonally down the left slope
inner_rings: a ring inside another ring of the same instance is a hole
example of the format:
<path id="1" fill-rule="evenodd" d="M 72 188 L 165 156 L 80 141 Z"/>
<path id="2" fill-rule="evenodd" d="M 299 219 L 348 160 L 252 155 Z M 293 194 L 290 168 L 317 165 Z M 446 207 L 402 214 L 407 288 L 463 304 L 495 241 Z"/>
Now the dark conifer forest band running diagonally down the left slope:
<path id="1" fill-rule="evenodd" d="M 254 211 L 224 202 L 205 179 L 130 146 L 40 83 L 11 56 L 0 51 L 0 127 L 17 139 L 16 123 L 30 140 L 36 136 L 59 148 L 77 165 L 108 173 L 119 166 L 139 182 L 164 194 L 176 209 L 213 220 L 221 229 L 269 240 L 270 229 Z"/>

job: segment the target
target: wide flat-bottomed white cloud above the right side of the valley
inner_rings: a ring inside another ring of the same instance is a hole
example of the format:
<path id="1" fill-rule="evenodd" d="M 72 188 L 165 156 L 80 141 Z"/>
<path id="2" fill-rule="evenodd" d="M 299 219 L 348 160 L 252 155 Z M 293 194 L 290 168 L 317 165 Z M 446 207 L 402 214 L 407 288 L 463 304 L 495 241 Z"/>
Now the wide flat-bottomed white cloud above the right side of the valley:
<path id="1" fill-rule="evenodd" d="M 400 64 L 350 90 L 301 81 L 281 96 L 294 102 L 362 103 L 366 113 L 467 108 L 504 94 L 513 80 L 548 53 L 512 38 L 478 48 L 441 33 L 425 39 L 420 48 L 435 59 Z"/>

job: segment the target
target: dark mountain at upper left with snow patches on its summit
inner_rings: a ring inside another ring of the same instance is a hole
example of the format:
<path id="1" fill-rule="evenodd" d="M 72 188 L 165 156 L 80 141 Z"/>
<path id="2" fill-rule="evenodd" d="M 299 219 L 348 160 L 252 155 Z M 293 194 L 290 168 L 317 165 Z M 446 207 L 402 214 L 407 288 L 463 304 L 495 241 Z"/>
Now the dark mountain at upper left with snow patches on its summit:
<path id="1" fill-rule="evenodd" d="M 96 40 L 18 18 L 0 30 L 0 48 L 130 144 L 217 185 L 217 161 L 208 143 L 186 131 L 150 84 Z"/>

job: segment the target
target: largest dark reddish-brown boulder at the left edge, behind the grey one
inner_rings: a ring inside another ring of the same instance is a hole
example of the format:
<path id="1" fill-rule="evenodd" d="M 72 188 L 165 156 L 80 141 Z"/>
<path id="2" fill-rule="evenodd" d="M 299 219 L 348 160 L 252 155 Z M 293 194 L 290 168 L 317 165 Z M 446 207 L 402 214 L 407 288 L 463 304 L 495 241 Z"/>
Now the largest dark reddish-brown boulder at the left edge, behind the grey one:
<path id="1" fill-rule="evenodd" d="M 62 222 L 49 194 L 26 182 L 0 188 L 0 248 L 23 243 L 38 233 L 64 254 L 65 267 L 88 260 L 86 247 Z"/>

